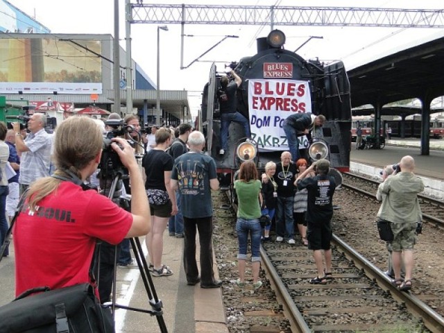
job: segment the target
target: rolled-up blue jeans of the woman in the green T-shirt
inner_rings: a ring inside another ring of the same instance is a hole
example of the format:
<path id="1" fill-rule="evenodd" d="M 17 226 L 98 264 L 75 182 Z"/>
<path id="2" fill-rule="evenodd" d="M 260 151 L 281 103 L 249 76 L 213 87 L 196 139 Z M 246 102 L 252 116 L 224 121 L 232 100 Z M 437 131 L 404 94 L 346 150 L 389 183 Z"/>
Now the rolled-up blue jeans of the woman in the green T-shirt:
<path id="1" fill-rule="evenodd" d="M 251 261 L 260 262 L 262 228 L 258 219 L 238 218 L 236 222 L 237 239 L 239 240 L 239 254 L 237 259 L 247 259 L 248 234 L 251 234 Z"/>

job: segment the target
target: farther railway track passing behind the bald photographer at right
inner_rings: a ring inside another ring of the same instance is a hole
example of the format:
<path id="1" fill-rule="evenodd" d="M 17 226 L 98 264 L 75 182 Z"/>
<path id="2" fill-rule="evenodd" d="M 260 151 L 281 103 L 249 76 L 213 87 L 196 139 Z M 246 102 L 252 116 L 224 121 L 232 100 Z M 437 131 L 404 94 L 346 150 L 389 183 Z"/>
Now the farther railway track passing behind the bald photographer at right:
<path id="1" fill-rule="evenodd" d="M 343 173 L 343 184 L 345 189 L 352 189 L 364 196 L 375 198 L 379 182 L 370 178 L 353 173 Z M 444 202 L 428 196 L 418 195 L 422 218 L 434 223 L 439 228 L 444 228 Z"/>

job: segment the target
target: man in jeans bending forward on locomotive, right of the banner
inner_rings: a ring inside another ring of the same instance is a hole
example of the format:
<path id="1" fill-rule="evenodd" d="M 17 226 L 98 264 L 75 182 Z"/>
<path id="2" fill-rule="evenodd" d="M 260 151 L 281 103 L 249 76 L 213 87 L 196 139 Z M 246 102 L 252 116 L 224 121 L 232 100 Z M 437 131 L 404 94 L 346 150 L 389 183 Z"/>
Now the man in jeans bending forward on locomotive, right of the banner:
<path id="1" fill-rule="evenodd" d="M 327 119 L 323 114 L 315 116 L 310 112 L 307 113 L 293 113 L 284 120 L 284 131 L 287 135 L 287 144 L 293 161 L 300 159 L 298 136 L 308 134 L 314 129 L 314 126 L 322 127 Z"/>

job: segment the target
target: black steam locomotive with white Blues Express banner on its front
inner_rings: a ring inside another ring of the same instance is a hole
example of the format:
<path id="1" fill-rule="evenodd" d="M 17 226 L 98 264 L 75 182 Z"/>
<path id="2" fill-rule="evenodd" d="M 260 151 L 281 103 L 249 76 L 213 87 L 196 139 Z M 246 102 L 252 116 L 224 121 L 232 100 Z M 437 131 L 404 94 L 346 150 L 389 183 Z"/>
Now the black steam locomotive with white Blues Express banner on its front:
<path id="1" fill-rule="evenodd" d="M 225 73 L 219 73 L 214 64 L 210 69 L 196 127 L 205 134 L 207 153 L 216 161 L 221 186 L 232 183 L 234 173 L 246 160 L 253 160 L 259 169 L 270 160 L 280 160 L 282 151 L 289 150 L 282 123 L 293 112 L 323 114 L 327 118 L 322 128 L 315 128 L 308 137 L 298 137 L 300 151 L 305 149 L 311 162 L 330 160 L 332 173 L 338 174 L 335 178 L 340 177 L 338 171 L 349 170 L 352 112 L 343 62 L 324 65 L 318 60 L 304 60 L 285 50 L 284 42 L 282 31 L 271 31 L 267 37 L 257 39 L 255 56 L 230 65 L 242 78 L 237 110 L 249 120 L 252 140 L 246 140 L 241 126 L 231 123 L 228 149 L 222 156 L 216 92 L 221 89 L 220 78 Z"/>

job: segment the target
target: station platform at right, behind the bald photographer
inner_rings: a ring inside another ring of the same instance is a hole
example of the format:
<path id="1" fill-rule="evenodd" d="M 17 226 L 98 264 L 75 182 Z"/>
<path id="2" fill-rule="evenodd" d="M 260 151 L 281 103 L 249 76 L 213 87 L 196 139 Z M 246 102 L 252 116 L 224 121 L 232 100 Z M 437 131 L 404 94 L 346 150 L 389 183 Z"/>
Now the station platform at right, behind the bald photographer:
<path id="1" fill-rule="evenodd" d="M 379 179 L 384 166 L 398 163 L 405 155 L 414 158 L 414 173 L 422 178 L 425 194 L 444 199 L 444 139 L 430 140 L 430 155 L 420 155 L 419 139 L 386 140 L 382 149 L 357 150 L 352 143 L 350 171 Z"/>

